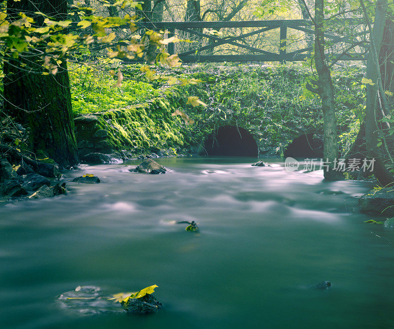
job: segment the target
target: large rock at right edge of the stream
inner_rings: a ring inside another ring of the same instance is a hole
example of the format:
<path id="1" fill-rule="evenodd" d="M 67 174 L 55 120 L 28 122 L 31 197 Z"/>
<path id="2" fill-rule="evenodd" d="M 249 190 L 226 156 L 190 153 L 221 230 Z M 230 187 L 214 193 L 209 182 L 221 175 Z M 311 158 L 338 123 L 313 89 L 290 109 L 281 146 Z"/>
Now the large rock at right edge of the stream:
<path id="1" fill-rule="evenodd" d="M 394 215 L 394 189 L 370 191 L 359 199 L 362 212 L 384 216 Z"/>

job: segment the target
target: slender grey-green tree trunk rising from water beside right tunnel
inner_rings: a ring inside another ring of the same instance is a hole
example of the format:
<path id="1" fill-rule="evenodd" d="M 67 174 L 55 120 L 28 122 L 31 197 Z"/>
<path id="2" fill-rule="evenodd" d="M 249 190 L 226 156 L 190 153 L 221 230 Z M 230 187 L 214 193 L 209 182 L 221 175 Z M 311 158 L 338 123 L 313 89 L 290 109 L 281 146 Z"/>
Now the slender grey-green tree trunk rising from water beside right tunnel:
<path id="1" fill-rule="evenodd" d="M 343 173 L 334 170 L 338 159 L 338 136 L 336 131 L 334 88 L 331 72 L 326 63 L 324 40 L 324 0 L 315 1 L 315 64 L 319 75 L 319 95 L 322 99 L 324 129 L 324 161 L 328 161 L 328 170 L 324 171 L 327 180 L 343 179 Z"/>

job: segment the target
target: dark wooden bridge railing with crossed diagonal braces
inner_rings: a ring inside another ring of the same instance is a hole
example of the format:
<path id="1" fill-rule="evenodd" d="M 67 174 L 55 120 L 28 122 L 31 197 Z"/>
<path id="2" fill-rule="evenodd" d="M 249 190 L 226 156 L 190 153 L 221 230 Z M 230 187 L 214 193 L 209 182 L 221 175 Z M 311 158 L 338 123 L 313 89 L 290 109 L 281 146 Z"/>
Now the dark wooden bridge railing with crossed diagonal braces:
<path id="1" fill-rule="evenodd" d="M 346 24 L 348 25 L 360 25 L 363 24 L 357 19 L 347 19 Z M 310 57 L 309 52 L 312 48 L 302 48 L 296 51 L 287 52 L 287 35 L 288 29 L 298 30 L 308 34 L 314 34 L 313 23 L 308 20 L 271 20 L 271 21 L 230 21 L 230 22 L 139 22 L 137 24 L 140 28 L 149 30 L 167 30 L 168 37 L 175 35 L 175 31 L 178 33 L 184 32 L 189 35 L 197 35 L 199 38 L 210 39 L 210 43 L 205 46 L 200 46 L 185 52 L 178 53 L 179 58 L 183 62 L 286 62 L 286 61 L 303 61 L 306 57 Z M 118 28 L 125 28 L 120 26 Z M 243 33 L 238 36 L 221 38 L 215 35 L 203 33 L 204 28 L 213 28 L 216 30 L 223 28 L 260 28 L 256 31 L 249 33 Z M 260 34 L 266 31 L 280 29 L 280 40 L 278 44 L 278 53 L 266 51 L 264 49 L 249 46 L 245 43 L 240 43 L 242 39 Z M 362 36 L 368 32 L 362 31 L 354 35 Z M 326 38 L 334 42 L 342 42 L 344 44 L 354 44 L 349 36 L 339 36 L 334 33 L 326 33 Z M 229 44 L 232 46 L 240 47 L 248 50 L 247 54 L 242 55 L 204 55 L 201 52 L 214 47 Z M 192 44 L 193 45 L 193 44 Z M 358 42 L 357 44 L 361 49 L 364 49 L 363 53 L 342 53 L 333 54 L 332 56 L 337 58 L 340 57 L 341 61 L 361 61 L 366 59 L 366 53 L 369 48 L 369 43 L 366 41 Z M 352 47 L 350 47 L 351 49 Z M 168 53 L 174 54 L 174 44 L 168 44 Z M 133 61 L 131 61 L 133 62 Z"/>

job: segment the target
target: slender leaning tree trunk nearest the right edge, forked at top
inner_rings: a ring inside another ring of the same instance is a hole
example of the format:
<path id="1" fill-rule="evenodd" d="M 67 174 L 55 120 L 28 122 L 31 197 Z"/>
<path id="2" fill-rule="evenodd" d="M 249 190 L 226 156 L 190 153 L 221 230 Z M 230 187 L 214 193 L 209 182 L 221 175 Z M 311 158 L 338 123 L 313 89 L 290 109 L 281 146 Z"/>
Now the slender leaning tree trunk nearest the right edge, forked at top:
<path id="1" fill-rule="evenodd" d="M 379 151 L 378 137 L 379 129 L 376 123 L 377 92 L 381 81 L 378 54 L 380 53 L 383 31 L 386 22 L 387 0 L 377 0 L 375 8 L 375 24 L 373 31 L 369 18 L 365 10 L 363 0 L 361 5 L 364 10 L 365 18 L 368 21 L 368 28 L 371 32 L 371 47 L 368 54 L 366 66 L 366 78 L 371 79 L 372 84 L 366 85 L 366 108 L 365 108 L 365 139 L 369 158 L 375 159 L 374 175 L 382 186 L 387 186 L 394 182 L 393 176 L 386 169 L 383 159 L 383 151 Z"/>

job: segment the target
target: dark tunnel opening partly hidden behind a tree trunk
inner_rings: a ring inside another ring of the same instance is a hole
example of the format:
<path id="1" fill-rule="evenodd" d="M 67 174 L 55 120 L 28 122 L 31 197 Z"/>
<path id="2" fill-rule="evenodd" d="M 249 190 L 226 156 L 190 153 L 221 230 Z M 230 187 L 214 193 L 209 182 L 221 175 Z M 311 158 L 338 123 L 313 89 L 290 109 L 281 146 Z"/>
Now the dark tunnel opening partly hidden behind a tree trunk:
<path id="1" fill-rule="evenodd" d="M 293 139 L 284 152 L 285 157 L 323 158 L 323 136 L 314 133 L 300 135 Z"/>

